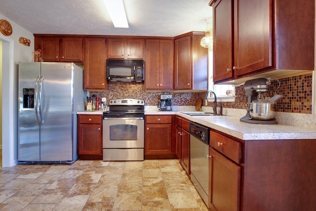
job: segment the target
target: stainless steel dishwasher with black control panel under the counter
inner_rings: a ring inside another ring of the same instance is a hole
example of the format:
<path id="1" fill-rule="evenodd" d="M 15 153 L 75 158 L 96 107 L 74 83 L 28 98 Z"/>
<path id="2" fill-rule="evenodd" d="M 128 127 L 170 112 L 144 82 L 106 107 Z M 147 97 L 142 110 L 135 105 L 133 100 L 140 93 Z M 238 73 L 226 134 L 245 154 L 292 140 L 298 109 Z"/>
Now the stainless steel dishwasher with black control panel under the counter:
<path id="1" fill-rule="evenodd" d="M 190 123 L 191 181 L 208 206 L 209 127 Z"/>

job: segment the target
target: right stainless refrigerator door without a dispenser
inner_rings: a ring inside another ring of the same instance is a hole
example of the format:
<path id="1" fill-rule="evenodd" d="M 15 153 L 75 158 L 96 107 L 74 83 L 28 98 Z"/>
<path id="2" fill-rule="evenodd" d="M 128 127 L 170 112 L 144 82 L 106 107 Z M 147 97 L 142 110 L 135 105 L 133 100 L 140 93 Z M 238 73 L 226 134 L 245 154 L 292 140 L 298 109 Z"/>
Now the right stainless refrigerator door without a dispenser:
<path id="1" fill-rule="evenodd" d="M 40 160 L 72 161 L 73 64 L 41 63 L 41 77 Z"/>

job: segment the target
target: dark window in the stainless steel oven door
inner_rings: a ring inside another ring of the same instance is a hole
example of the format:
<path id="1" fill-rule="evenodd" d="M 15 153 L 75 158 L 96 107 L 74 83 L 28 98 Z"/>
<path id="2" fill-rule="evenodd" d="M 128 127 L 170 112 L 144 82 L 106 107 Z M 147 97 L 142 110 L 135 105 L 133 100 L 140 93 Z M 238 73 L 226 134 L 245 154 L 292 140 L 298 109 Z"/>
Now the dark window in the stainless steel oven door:
<path id="1" fill-rule="evenodd" d="M 137 140 L 137 126 L 113 125 L 110 126 L 110 141 Z"/>

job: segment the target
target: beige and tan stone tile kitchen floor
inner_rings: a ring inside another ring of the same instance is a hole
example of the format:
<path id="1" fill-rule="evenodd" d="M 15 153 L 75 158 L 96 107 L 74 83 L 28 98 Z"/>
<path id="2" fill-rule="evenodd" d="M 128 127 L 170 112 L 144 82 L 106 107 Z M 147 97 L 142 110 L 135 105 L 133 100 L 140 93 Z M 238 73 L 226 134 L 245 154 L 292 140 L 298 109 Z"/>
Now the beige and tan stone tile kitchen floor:
<path id="1" fill-rule="evenodd" d="M 178 160 L 0 168 L 1 211 L 208 211 Z"/>

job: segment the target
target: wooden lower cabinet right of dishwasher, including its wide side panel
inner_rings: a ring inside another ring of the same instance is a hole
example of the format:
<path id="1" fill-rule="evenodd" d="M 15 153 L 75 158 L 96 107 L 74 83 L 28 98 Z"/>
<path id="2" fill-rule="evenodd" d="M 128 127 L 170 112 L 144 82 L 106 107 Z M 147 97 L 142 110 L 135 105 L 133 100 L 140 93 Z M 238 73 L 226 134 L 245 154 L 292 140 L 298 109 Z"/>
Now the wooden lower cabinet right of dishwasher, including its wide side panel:
<path id="1" fill-rule="evenodd" d="M 211 211 L 314 211 L 316 140 L 241 140 L 210 131 Z"/>

